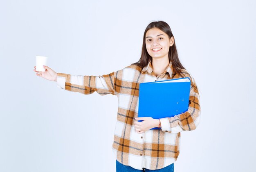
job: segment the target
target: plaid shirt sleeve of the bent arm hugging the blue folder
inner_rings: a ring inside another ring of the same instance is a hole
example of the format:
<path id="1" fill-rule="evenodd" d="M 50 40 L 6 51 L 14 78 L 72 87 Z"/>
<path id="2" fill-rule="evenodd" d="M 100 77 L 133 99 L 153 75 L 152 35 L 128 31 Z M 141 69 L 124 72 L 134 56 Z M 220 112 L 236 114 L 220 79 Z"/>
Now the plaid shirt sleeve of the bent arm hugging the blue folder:
<path id="1" fill-rule="evenodd" d="M 180 133 L 185 130 L 191 131 L 194 130 L 200 122 L 201 112 L 198 88 L 190 75 L 188 73 L 185 73 L 185 75 L 185 77 L 189 77 L 191 81 L 189 108 L 186 112 L 175 115 L 174 117 L 160 118 L 162 131 L 168 133 Z"/>

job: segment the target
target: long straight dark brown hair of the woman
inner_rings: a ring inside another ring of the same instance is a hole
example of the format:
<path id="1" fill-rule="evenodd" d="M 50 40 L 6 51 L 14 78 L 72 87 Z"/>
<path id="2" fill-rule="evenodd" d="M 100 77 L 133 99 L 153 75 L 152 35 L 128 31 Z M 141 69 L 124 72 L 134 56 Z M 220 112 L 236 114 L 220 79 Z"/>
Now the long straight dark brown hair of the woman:
<path id="1" fill-rule="evenodd" d="M 142 69 L 146 65 L 148 65 L 148 62 L 150 60 L 152 61 L 152 57 L 148 54 L 148 51 L 146 49 L 146 33 L 149 29 L 152 29 L 152 28 L 159 28 L 160 30 L 162 30 L 164 33 L 166 33 L 168 35 L 169 39 L 171 39 L 171 37 L 174 38 L 171 28 L 166 22 L 157 21 L 157 22 L 151 22 L 150 24 L 148 24 L 148 26 L 146 27 L 146 30 L 144 32 L 144 35 L 143 35 L 141 57 L 140 57 L 139 61 L 137 61 L 136 63 L 132 63 L 133 65 L 138 65 Z M 177 73 L 181 77 L 185 77 L 181 72 L 181 69 L 185 69 L 185 67 L 180 63 L 176 45 L 175 45 L 175 41 L 174 41 L 173 46 L 171 46 L 169 49 L 168 58 L 169 58 L 169 61 L 171 61 L 171 63 L 172 63 L 174 74 Z"/>

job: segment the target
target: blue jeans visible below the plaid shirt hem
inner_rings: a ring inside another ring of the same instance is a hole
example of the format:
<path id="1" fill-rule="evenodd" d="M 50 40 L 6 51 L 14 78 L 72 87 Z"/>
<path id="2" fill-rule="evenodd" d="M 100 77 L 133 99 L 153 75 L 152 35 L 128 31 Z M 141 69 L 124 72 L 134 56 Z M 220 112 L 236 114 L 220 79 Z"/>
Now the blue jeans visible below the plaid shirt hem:
<path id="1" fill-rule="evenodd" d="M 123 165 L 116 160 L 116 169 L 117 172 L 174 172 L 174 163 L 159 170 L 148 170 L 146 168 L 143 168 L 143 170 L 137 170 L 130 166 Z"/>

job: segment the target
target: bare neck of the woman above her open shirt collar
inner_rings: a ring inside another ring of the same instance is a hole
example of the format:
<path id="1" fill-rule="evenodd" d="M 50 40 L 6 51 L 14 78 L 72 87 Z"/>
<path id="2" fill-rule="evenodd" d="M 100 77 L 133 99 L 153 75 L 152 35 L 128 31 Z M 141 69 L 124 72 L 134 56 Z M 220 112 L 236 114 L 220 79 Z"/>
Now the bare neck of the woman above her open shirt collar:
<path id="1" fill-rule="evenodd" d="M 164 70 L 168 67 L 170 61 L 167 57 L 163 57 L 160 59 L 152 58 L 152 68 L 156 75 L 162 74 Z"/>

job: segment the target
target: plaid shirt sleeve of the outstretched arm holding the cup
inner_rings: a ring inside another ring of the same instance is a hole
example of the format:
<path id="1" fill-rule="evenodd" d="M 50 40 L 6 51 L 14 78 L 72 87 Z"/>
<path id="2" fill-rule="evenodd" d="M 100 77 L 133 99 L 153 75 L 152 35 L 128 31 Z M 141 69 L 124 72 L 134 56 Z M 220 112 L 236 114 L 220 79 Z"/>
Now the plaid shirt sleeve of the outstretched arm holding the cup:
<path id="1" fill-rule="evenodd" d="M 58 73 L 57 87 L 82 94 L 92 94 L 95 91 L 101 96 L 117 95 L 115 83 L 117 72 L 101 76 L 83 76 Z"/>

